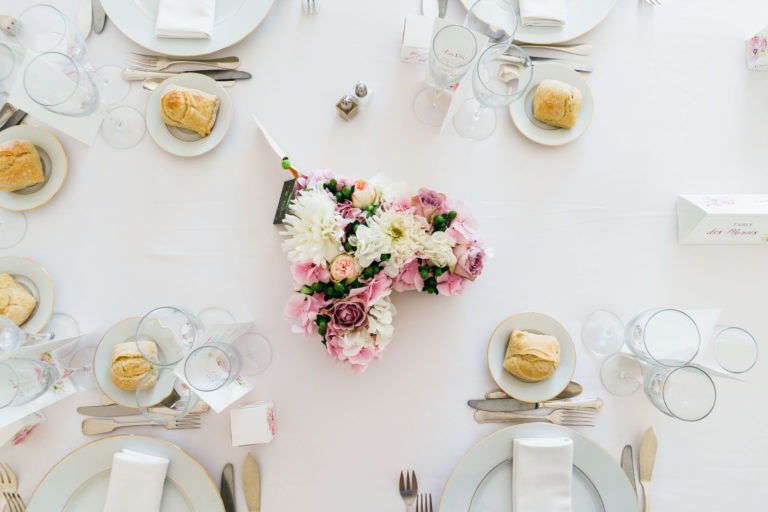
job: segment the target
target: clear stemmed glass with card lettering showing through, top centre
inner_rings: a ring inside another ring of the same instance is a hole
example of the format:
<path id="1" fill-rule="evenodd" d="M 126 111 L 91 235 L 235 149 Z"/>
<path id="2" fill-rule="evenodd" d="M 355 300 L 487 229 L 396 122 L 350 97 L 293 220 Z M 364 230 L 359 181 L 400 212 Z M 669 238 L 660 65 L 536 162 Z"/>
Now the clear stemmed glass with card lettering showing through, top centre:
<path id="1" fill-rule="evenodd" d="M 477 55 L 477 39 L 466 27 L 446 25 L 435 34 L 429 51 L 429 71 L 436 87 L 426 87 L 413 100 L 413 113 L 424 124 L 440 126 L 451 95 L 446 89 L 469 71 Z"/>

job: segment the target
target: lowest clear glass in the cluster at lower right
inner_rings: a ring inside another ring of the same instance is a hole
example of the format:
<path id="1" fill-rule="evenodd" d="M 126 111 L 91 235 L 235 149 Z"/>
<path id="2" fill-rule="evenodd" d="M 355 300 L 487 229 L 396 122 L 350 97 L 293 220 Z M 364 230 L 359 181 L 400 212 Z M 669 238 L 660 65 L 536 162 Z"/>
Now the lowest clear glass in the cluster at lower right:
<path id="1" fill-rule="evenodd" d="M 695 366 L 655 366 L 645 376 L 643 389 L 657 409 L 683 421 L 706 418 L 717 400 L 712 378 Z"/>

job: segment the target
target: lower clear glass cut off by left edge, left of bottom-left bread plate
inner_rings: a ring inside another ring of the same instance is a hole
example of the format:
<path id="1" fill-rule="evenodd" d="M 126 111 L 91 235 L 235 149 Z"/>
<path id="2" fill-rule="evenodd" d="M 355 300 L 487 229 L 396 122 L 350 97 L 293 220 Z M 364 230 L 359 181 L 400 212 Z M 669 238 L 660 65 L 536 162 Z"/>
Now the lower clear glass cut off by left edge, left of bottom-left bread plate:
<path id="1" fill-rule="evenodd" d="M 37 359 L 6 359 L 0 362 L 0 409 L 31 402 L 45 393 L 58 378 L 53 365 Z"/>

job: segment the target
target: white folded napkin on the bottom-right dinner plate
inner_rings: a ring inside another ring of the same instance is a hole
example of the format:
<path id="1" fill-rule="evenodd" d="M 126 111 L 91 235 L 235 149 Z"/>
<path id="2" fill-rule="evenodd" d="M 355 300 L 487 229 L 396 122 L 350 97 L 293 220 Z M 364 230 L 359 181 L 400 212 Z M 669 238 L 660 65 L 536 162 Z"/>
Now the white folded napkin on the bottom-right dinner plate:
<path id="1" fill-rule="evenodd" d="M 515 439 L 512 453 L 513 512 L 571 512 L 573 441 Z"/>

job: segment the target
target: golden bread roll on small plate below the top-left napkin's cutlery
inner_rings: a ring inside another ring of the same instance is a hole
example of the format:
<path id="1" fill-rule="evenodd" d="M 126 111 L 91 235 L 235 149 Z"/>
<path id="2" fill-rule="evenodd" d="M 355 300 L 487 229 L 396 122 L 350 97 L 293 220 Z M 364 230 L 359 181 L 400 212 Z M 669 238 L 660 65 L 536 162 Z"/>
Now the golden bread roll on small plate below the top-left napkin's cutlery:
<path id="1" fill-rule="evenodd" d="M 169 86 L 160 97 L 160 115 L 165 124 L 186 128 L 206 137 L 216 122 L 219 98 L 197 89 Z"/>

